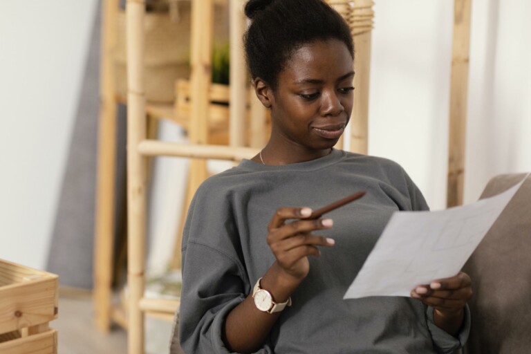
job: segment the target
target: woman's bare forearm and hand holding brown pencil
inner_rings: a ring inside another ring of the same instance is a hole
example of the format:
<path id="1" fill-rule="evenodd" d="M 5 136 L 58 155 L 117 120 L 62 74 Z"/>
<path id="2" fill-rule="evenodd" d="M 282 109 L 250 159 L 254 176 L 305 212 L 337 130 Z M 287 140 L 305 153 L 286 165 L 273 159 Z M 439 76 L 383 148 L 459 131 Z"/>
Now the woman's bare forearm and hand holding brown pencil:
<path id="1" fill-rule="evenodd" d="M 268 244 L 277 261 L 263 274 L 260 285 L 270 292 L 277 304 L 288 301 L 308 275 L 308 256 L 319 256 L 317 247 L 334 244 L 332 239 L 312 234 L 314 230 L 332 227 L 332 220 L 304 220 L 311 213 L 312 210 L 307 207 L 281 207 L 268 225 Z M 259 310 L 251 291 L 245 301 L 227 315 L 224 331 L 227 348 L 238 353 L 254 353 L 268 337 L 280 315 L 281 312 Z"/>

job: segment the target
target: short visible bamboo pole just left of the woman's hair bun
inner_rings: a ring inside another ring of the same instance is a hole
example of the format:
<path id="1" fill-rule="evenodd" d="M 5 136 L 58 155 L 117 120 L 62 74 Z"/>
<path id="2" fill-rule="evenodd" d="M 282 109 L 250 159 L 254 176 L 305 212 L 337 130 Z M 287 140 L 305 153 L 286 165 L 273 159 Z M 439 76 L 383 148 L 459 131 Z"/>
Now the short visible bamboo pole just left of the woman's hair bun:
<path id="1" fill-rule="evenodd" d="M 247 82 L 242 37 L 245 30 L 242 0 L 230 0 L 230 119 L 229 145 L 245 145 L 245 113 L 247 110 Z"/>

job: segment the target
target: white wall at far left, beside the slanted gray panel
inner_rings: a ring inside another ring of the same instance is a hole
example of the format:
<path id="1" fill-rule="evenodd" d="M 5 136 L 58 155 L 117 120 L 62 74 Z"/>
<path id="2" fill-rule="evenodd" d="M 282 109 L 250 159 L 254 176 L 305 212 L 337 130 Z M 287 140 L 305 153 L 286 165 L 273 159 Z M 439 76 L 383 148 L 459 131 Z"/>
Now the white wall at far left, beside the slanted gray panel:
<path id="1" fill-rule="evenodd" d="M 1 1 L 1 259 L 46 265 L 96 4 Z"/>

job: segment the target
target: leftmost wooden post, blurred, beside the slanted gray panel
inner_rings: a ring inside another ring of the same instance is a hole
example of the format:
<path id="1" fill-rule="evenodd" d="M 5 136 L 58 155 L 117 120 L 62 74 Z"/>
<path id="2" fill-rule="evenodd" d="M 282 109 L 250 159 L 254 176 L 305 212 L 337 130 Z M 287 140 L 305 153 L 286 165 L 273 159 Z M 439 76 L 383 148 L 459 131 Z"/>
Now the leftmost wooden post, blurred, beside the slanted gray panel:
<path id="1" fill-rule="evenodd" d="M 113 278 L 113 232 L 116 166 L 116 102 L 114 53 L 118 1 L 104 0 L 100 60 L 100 126 L 97 152 L 97 183 L 94 235 L 95 324 L 109 332 Z"/>

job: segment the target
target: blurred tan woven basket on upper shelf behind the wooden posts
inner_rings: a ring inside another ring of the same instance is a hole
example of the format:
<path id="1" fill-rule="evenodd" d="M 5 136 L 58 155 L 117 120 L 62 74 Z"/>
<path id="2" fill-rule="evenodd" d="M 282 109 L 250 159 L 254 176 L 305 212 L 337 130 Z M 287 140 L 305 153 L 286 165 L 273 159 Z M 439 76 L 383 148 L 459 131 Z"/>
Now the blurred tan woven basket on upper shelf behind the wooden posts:
<path id="1" fill-rule="evenodd" d="M 179 20 L 168 13 L 146 12 L 145 32 L 145 95 L 149 102 L 171 103 L 175 100 L 175 82 L 189 77 L 190 2 L 179 3 Z M 227 40 L 227 6 L 216 5 L 214 41 Z M 115 49 L 116 91 L 127 97 L 126 18 L 118 14 L 117 46 Z"/>

